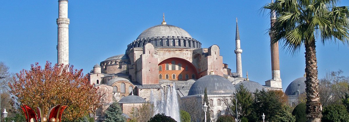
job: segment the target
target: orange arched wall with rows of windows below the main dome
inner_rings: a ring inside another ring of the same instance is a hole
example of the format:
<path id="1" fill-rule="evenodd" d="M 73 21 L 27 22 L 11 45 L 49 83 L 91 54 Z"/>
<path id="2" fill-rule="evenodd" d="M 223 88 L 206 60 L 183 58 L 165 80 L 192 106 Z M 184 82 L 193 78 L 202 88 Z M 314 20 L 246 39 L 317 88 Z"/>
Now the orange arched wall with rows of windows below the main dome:
<path id="1" fill-rule="evenodd" d="M 175 61 L 177 70 L 172 70 L 172 61 Z M 169 64 L 169 70 L 166 70 L 166 63 Z M 182 64 L 181 70 L 178 70 L 178 63 Z M 162 74 L 162 79 L 166 79 L 166 74 L 169 74 L 168 80 L 186 81 L 188 79 L 193 79 L 192 74 L 195 75 L 195 79 L 199 78 L 198 72 L 196 71 L 196 68 L 194 67 L 194 65 L 184 59 L 169 58 L 160 62 L 158 66 L 162 67 L 162 71 L 159 70 L 159 74 Z M 185 70 L 186 66 L 188 66 L 188 70 Z M 173 79 L 172 74 L 176 74 L 176 78 Z M 179 79 L 179 74 L 182 75 L 182 79 Z M 189 75 L 189 78 L 185 79 L 185 75 Z"/>

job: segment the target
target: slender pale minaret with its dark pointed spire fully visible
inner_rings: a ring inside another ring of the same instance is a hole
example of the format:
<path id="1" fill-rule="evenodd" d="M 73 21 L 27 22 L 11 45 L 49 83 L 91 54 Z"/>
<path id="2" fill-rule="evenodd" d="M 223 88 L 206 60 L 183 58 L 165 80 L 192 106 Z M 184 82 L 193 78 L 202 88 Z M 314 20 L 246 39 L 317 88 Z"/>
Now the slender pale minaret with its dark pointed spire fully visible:
<path id="1" fill-rule="evenodd" d="M 236 72 L 242 77 L 242 64 L 241 64 L 241 53 L 242 49 L 240 48 L 240 35 L 238 27 L 238 18 L 236 18 L 236 34 L 235 34 L 235 54 L 236 54 Z"/>

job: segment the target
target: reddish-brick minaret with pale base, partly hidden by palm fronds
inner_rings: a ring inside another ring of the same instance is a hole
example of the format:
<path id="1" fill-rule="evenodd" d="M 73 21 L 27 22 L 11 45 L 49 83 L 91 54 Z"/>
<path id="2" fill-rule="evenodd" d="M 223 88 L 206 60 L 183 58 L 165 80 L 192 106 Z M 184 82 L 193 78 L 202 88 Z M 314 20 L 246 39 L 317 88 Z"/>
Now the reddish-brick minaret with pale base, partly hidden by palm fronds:
<path id="1" fill-rule="evenodd" d="M 273 3 L 273 0 L 272 0 Z M 276 21 L 276 14 L 275 11 L 270 12 L 270 28 L 273 28 L 274 23 Z M 272 33 L 269 33 L 270 35 L 270 42 L 272 41 Z M 280 63 L 279 63 L 279 43 L 274 43 L 273 45 L 270 45 L 270 54 L 272 57 L 272 79 L 270 79 L 269 83 L 266 82 L 267 86 L 270 87 L 277 87 L 282 89 L 281 84 L 281 77 L 280 77 Z"/>

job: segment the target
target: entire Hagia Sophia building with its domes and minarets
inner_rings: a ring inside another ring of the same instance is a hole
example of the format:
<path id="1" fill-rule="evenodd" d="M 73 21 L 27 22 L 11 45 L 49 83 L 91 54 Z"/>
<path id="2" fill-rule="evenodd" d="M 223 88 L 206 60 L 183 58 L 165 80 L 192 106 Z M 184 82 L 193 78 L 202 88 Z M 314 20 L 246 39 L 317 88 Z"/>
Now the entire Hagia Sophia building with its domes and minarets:
<path id="1" fill-rule="evenodd" d="M 58 63 L 69 64 L 68 0 L 58 2 Z M 271 26 L 275 19 L 275 15 L 271 14 Z M 114 101 L 120 104 L 125 116 L 130 116 L 131 110 L 137 113 L 139 107 L 150 100 L 151 94 L 166 95 L 174 87 L 179 107 L 183 107 L 184 100 L 197 100 L 198 106 L 202 106 L 203 94 L 207 89 L 212 120 L 225 113 L 223 101 L 226 99 L 222 98 L 234 94 L 239 89 L 239 84 L 244 84 L 250 92 L 256 89 L 283 90 L 277 43 L 271 46 L 272 77 L 266 79 L 265 84 L 250 80 L 248 74 L 242 76 L 243 50 L 240 48 L 237 20 L 235 69 L 228 68 L 228 64 L 223 62 L 219 45 L 201 47 L 201 42 L 190 33 L 166 23 L 164 15 L 162 22 L 158 23 L 159 25 L 145 29 L 135 40 L 130 41 L 125 46 L 125 52 L 96 62 L 88 73 L 90 83 L 106 91 L 102 99 L 103 107 L 94 113 L 96 121 L 104 119 L 104 110 Z M 232 72 L 239 76 L 233 77 Z M 305 91 L 304 81 L 305 77 L 298 78 L 287 87 L 285 93 L 291 96 L 290 104 L 298 102 L 297 96 Z"/>

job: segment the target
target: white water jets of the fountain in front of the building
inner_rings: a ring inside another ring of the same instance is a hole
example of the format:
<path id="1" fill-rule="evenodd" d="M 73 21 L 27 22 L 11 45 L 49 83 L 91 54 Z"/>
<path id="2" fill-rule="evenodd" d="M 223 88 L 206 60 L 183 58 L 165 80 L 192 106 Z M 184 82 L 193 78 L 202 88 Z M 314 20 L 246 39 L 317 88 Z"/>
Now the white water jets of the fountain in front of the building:
<path id="1" fill-rule="evenodd" d="M 167 91 L 166 99 L 163 90 L 161 90 L 161 99 L 159 99 L 157 93 L 151 90 L 150 102 L 154 104 L 154 114 L 164 113 L 166 116 L 171 116 L 174 120 L 180 122 L 176 85 L 173 84 L 172 89 Z"/>

